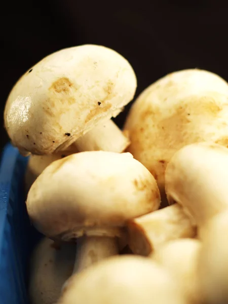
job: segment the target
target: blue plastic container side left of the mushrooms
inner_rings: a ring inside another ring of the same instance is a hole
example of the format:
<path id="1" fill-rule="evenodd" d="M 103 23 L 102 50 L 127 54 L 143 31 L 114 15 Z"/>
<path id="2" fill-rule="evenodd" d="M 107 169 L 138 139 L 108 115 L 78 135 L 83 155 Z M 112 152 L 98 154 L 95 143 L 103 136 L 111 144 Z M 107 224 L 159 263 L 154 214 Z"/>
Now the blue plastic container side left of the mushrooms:
<path id="1" fill-rule="evenodd" d="M 8 144 L 0 164 L 0 304 L 28 304 L 28 261 L 41 237 L 26 212 L 26 165 L 27 158 Z"/>

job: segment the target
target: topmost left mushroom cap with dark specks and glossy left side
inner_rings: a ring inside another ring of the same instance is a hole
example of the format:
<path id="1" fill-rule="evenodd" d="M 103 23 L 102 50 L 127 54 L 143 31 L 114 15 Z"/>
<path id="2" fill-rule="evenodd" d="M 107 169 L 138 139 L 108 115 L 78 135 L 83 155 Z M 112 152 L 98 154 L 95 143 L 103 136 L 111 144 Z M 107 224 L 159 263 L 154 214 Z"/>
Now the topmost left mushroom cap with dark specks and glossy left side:
<path id="1" fill-rule="evenodd" d="M 116 117 L 136 86 L 131 65 L 116 51 L 97 45 L 63 49 L 35 64 L 13 87 L 5 127 L 22 154 L 51 154 Z"/>

